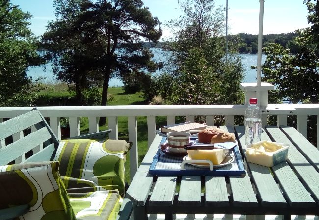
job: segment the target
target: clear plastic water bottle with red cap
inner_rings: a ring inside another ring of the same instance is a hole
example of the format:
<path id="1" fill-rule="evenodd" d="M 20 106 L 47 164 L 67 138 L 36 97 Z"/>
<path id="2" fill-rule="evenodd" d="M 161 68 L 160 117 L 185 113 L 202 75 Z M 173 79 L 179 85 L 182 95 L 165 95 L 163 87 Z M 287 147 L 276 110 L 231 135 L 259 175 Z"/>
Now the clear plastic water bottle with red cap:
<path id="1" fill-rule="evenodd" d="M 245 143 L 246 146 L 261 141 L 262 111 L 257 106 L 257 99 L 250 98 L 245 111 Z"/>

